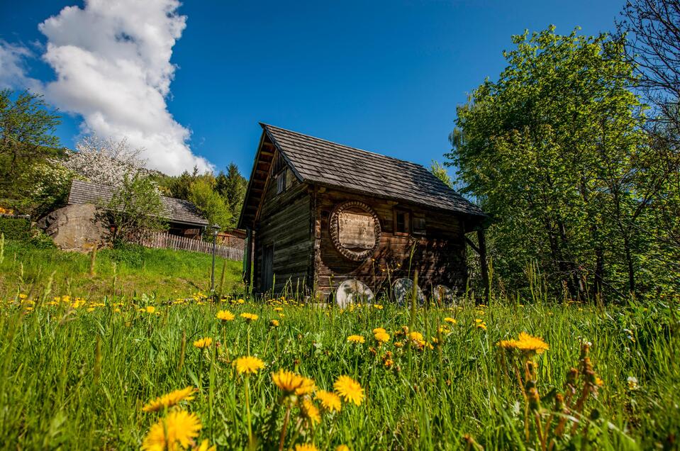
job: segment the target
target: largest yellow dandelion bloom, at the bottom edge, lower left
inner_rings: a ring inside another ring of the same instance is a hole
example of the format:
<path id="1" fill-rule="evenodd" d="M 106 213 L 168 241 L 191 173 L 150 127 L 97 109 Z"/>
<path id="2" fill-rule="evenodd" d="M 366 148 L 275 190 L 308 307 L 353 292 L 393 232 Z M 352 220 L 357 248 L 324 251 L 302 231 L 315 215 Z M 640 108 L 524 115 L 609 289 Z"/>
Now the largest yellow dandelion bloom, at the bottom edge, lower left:
<path id="1" fill-rule="evenodd" d="M 196 413 L 174 411 L 151 426 L 142 442 L 143 451 L 176 450 L 194 444 L 199 436 L 201 421 Z"/>

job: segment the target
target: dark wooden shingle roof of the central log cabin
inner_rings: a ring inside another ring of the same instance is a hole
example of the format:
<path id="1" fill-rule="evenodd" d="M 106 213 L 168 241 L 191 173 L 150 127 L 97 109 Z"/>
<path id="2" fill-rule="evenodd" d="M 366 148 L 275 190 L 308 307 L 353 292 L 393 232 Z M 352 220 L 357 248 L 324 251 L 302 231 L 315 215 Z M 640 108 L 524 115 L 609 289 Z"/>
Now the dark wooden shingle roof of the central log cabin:
<path id="1" fill-rule="evenodd" d="M 416 163 L 260 124 L 302 182 L 486 216 L 432 172 Z"/>

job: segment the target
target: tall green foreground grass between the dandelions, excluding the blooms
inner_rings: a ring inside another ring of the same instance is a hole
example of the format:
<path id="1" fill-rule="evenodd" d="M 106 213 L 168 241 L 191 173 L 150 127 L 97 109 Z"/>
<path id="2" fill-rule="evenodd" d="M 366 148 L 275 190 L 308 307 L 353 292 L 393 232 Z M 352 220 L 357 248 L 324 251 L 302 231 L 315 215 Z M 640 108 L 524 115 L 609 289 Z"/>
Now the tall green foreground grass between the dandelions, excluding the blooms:
<path id="1" fill-rule="evenodd" d="M 84 277 L 87 262 L 72 265 L 77 269 L 73 284 Z M 299 423 L 294 408 L 286 449 L 302 442 L 315 442 L 322 450 L 340 444 L 352 450 L 476 449 L 466 445 L 466 435 L 487 450 L 540 449 L 533 423 L 525 440 L 523 396 L 495 345 L 521 331 L 550 345 L 535 360 L 542 396 L 553 388 L 564 391 L 569 368 L 579 364 L 581 340 L 592 343 L 591 361 L 603 380 L 597 396 L 588 397 L 584 417 L 572 412 L 581 422 L 576 433 L 557 440 L 554 449 L 652 449 L 663 447 L 680 427 L 677 303 L 596 308 L 494 301 L 483 308 L 408 311 L 383 301 L 381 310 L 284 306 L 280 317 L 274 306 L 255 302 L 157 303 L 154 313 L 139 311 L 148 300 L 110 302 L 88 311 L 87 304 L 73 309 L 64 302 L 50 306 L 38 299 L 34 305 L 8 298 L 0 307 L 4 446 L 138 449 L 161 418 L 143 413 L 143 405 L 168 391 L 196 386 L 196 399 L 183 408 L 201 419 L 200 439 L 218 449 L 243 449 L 248 442 L 246 384 L 233 360 L 250 347 L 250 355 L 267 365 L 248 382 L 253 435 L 262 449 L 277 449 L 284 419 L 285 403 L 269 375 L 279 368 L 311 377 L 326 390 L 347 374 L 366 394 L 360 406 L 343 403 L 340 413 L 324 415 L 314 430 Z M 27 306 L 34 308 L 26 313 Z M 221 308 L 236 313 L 236 319 L 220 323 L 215 315 Z M 242 312 L 260 318 L 249 325 L 238 317 Z M 441 347 L 395 347 L 403 338 L 394 332 L 403 325 L 429 340 L 445 317 L 457 324 L 442 336 Z M 476 327 L 476 318 L 486 330 Z M 278 328 L 270 326 L 272 319 L 280 321 Z M 391 335 L 383 347 L 373 339 L 377 327 Z M 363 335 L 366 343 L 347 343 L 351 334 Z M 191 343 L 202 337 L 219 346 L 201 352 Z M 390 368 L 383 364 L 386 351 L 394 360 Z M 637 378 L 638 389 L 630 389 L 628 377 Z M 542 421 L 552 406 L 552 401 L 542 403 Z"/>

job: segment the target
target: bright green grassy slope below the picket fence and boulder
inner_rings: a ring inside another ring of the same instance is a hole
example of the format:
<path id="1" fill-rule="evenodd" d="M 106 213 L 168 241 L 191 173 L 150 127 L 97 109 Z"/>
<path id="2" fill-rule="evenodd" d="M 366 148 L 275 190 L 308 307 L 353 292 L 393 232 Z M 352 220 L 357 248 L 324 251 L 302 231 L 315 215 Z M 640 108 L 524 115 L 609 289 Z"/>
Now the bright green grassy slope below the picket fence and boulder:
<path id="1" fill-rule="evenodd" d="M 211 255 L 143 247 L 101 250 L 96 255 L 94 277 L 89 275 L 90 257 L 7 241 L 4 262 L 0 263 L 0 298 L 13 298 L 17 291 L 38 296 L 52 273 L 52 294 L 86 299 L 111 296 L 115 289 L 118 297 L 145 293 L 165 300 L 191 296 L 196 291 L 205 293 L 210 288 Z M 216 284 L 224 262 L 224 291 L 238 289 L 242 263 L 219 257 Z"/>

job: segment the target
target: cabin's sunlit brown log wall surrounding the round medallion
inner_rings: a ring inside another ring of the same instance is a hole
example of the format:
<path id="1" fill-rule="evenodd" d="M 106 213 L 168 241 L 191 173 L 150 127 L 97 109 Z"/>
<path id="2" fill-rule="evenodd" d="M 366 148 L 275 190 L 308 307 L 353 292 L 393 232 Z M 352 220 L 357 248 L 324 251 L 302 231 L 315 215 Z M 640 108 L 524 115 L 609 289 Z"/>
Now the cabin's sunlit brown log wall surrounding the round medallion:
<path id="1" fill-rule="evenodd" d="M 328 228 L 330 212 L 343 201 L 362 201 L 377 213 L 381 225 L 379 246 L 372 259 L 352 262 L 333 245 Z M 425 234 L 394 232 L 394 208 L 413 216 L 425 217 Z M 396 203 L 342 191 L 316 193 L 314 278 L 318 289 L 328 293 L 345 279 L 359 279 L 375 293 L 386 289 L 389 280 L 413 277 L 417 269 L 419 285 L 429 293 L 430 286 L 444 284 L 464 289 L 467 281 L 463 223 L 451 213 L 430 211 L 413 204 Z M 409 263 L 410 262 L 410 263 Z"/>

